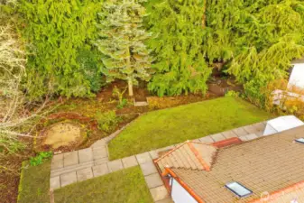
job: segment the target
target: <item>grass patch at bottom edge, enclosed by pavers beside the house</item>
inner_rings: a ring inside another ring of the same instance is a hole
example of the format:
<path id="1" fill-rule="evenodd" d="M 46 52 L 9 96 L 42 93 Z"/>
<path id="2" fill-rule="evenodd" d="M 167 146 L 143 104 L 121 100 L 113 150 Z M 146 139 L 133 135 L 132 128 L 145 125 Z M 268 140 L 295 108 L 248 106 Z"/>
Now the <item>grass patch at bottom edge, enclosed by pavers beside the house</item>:
<path id="1" fill-rule="evenodd" d="M 55 190 L 56 203 L 152 203 L 139 166 Z"/>

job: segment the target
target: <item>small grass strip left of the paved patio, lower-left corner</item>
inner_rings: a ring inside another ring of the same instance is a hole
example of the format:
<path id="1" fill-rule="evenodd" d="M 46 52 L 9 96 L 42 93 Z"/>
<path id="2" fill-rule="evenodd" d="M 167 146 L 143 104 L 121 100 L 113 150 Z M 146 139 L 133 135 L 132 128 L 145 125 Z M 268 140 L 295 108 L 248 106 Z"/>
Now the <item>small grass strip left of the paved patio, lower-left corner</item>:
<path id="1" fill-rule="evenodd" d="M 29 166 L 23 162 L 20 176 L 18 203 L 50 203 L 50 171 L 51 161 L 39 166 Z"/>

